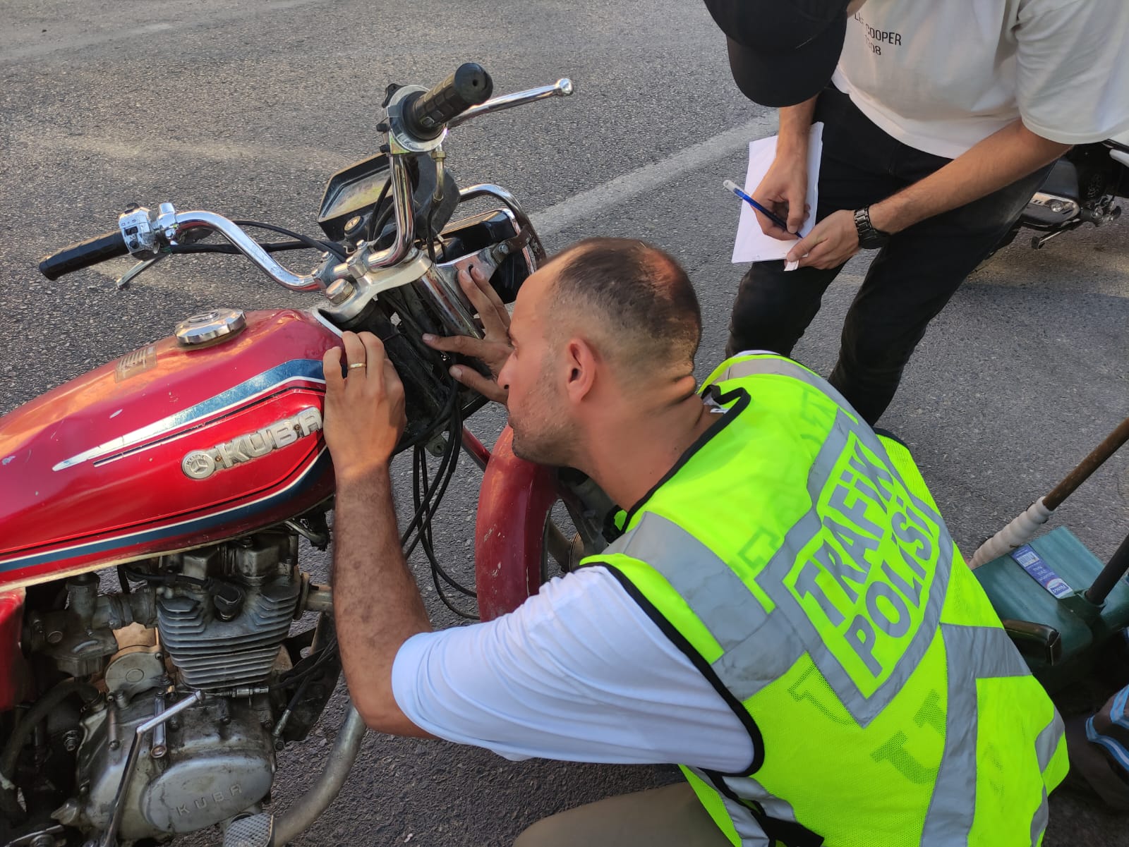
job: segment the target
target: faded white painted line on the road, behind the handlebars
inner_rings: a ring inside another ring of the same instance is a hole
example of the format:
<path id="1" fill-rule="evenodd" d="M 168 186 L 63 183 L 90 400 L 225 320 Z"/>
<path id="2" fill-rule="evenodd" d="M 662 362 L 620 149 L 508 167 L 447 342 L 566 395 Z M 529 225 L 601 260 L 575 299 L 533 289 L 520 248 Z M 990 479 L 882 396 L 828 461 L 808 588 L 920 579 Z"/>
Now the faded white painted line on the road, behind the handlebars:
<path id="1" fill-rule="evenodd" d="M 569 226 L 587 220 L 620 203 L 656 188 L 660 188 L 683 174 L 688 174 L 746 147 L 750 141 L 776 132 L 776 113 L 768 112 L 752 121 L 734 126 L 684 148 L 662 161 L 645 165 L 611 182 L 574 194 L 555 205 L 530 215 L 541 236 L 551 236 Z M 718 183 L 720 186 L 720 183 Z"/>

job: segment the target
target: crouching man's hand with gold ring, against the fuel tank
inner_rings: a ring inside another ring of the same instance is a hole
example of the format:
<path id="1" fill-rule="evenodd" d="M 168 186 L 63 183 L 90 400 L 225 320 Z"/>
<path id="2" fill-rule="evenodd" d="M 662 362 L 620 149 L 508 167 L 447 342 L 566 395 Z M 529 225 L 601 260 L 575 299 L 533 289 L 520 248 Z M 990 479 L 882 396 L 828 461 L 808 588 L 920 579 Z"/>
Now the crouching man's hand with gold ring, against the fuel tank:
<path id="1" fill-rule="evenodd" d="M 344 333 L 341 347 L 325 351 L 325 443 L 340 482 L 386 467 L 404 431 L 404 386 L 371 333 Z"/>

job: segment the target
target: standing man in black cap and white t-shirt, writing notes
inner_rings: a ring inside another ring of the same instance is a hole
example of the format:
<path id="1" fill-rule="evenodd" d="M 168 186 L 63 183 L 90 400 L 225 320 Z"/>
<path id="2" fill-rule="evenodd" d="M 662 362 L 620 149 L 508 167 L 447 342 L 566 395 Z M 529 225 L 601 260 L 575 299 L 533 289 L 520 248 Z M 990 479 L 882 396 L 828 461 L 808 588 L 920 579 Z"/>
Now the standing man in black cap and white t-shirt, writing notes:
<path id="1" fill-rule="evenodd" d="M 753 197 L 794 239 L 808 127 L 822 121 L 816 224 L 741 281 L 727 353 L 790 355 L 843 264 L 878 250 L 830 382 L 874 423 L 968 274 L 1073 144 L 1129 127 L 1126 0 L 706 0 L 750 99 L 780 108 Z M 829 81 L 831 85 L 829 85 Z"/>

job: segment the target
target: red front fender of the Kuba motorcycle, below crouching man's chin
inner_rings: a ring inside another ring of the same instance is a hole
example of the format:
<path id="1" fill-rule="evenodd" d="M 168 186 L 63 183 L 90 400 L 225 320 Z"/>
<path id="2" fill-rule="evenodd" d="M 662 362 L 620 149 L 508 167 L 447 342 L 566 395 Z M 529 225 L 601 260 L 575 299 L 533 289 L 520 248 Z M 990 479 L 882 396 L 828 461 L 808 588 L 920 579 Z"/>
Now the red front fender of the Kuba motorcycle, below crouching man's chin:
<path id="1" fill-rule="evenodd" d="M 482 475 L 474 523 L 479 615 L 513 611 L 541 585 L 545 520 L 557 501 L 557 474 L 514 456 L 514 432 L 498 436 Z"/>

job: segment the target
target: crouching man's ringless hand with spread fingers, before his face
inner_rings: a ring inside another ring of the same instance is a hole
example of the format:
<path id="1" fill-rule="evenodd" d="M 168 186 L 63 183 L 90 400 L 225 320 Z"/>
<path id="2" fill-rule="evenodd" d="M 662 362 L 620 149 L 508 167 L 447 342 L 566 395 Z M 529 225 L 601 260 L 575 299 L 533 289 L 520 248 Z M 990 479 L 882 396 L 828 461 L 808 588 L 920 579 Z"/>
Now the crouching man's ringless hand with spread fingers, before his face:
<path id="1" fill-rule="evenodd" d="M 506 305 L 498 297 L 498 292 L 490 285 L 489 277 L 482 273 L 478 265 L 472 266 L 470 273 L 460 270 L 458 284 L 471 305 L 478 310 L 485 337 L 480 339 L 469 335 L 446 337 L 425 335 L 423 343 L 445 353 L 462 353 L 465 356 L 482 360 L 490 369 L 493 379 L 487 379 L 473 368 L 463 364 L 453 365 L 450 376 L 467 388 L 473 388 L 487 399 L 505 405 L 507 391 L 498 385 L 497 380 L 506 360 L 514 352 L 509 343 L 509 312 L 506 311 Z"/>

